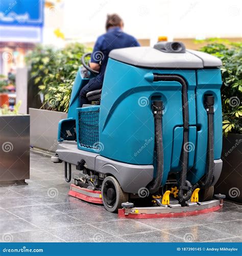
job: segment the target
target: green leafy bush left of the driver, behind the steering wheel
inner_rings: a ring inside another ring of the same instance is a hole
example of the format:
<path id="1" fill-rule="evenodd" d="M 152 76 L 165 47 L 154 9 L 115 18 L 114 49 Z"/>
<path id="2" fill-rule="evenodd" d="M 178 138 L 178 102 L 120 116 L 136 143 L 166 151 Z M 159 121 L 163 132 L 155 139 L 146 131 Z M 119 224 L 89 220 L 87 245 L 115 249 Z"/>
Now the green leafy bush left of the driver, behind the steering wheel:
<path id="1" fill-rule="evenodd" d="M 31 75 L 43 95 L 42 108 L 68 111 L 70 94 L 81 57 L 86 51 L 79 43 L 67 45 L 64 49 L 38 46 L 27 56 Z"/>

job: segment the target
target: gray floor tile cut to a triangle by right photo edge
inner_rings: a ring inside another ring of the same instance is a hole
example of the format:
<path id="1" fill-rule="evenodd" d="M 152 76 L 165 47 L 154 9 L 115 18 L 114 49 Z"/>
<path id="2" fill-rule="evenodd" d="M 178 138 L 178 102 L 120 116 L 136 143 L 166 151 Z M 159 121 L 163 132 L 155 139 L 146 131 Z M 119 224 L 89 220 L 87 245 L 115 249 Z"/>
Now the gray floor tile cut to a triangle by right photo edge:
<path id="1" fill-rule="evenodd" d="M 210 223 L 210 228 L 231 234 L 234 237 L 242 236 L 242 221 L 228 221 L 222 223 Z"/>

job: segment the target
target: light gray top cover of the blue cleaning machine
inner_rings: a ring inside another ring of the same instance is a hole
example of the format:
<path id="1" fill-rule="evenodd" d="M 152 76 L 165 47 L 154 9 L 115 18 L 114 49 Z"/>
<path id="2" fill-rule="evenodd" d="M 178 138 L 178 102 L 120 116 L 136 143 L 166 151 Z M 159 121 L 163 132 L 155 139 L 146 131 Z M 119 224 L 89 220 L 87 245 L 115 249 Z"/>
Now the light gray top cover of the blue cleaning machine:
<path id="1" fill-rule="evenodd" d="M 202 69 L 222 66 L 219 58 L 193 50 L 186 50 L 185 53 L 166 53 L 153 47 L 130 47 L 112 50 L 109 57 L 144 68 Z"/>

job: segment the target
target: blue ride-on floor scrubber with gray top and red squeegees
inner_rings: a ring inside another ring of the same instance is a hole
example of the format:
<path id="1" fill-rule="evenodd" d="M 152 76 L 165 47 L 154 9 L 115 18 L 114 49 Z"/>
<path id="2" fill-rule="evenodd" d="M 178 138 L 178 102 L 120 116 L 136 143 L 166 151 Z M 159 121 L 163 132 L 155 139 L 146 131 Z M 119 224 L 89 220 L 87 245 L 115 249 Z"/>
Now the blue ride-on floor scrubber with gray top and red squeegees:
<path id="1" fill-rule="evenodd" d="M 69 195 L 103 204 L 120 218 L 203 214 L 222 170 L 220 59 L 159 42 L 110 52 L 102 90 L 80 89 L 98 72 L 83 55 L 58 149 Z M 76 170 L 72 172 L 71 166 Z"/>

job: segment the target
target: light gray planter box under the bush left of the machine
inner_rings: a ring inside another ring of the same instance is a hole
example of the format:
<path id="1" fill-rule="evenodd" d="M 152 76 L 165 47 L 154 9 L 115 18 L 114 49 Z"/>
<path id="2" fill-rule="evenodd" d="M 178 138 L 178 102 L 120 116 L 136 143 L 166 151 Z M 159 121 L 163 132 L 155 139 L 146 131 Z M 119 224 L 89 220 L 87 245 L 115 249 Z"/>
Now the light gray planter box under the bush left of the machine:
<path id="1" fill-rule="evenodd" d="M 67 118 L 63 112 L 29 109 L 30 113 L 30 145 L 49 152 L 57 148 L 58 123 Z"/>

